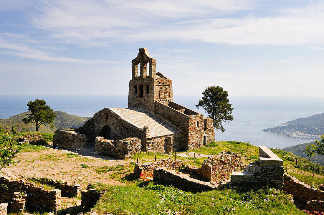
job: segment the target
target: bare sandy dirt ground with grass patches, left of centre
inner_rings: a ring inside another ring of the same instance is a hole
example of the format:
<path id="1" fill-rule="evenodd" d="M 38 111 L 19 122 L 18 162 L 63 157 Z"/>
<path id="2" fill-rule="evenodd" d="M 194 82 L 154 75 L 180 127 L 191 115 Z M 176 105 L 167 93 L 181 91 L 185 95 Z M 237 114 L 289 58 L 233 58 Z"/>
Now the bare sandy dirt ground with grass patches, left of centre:
<path id="1" fill-rule="evenodd" d="M 86 188 L 89 182 L 125 185 L 118 179 L 133 171 L 134 166 L 130 163 L 134 161 L 94 155 L 90 153 L 92 150 L 90 147 L 87 150 L 76 151 L 77 153 L 75 150 L 55 149 L 18 153 L 15 166 L 10 165 L 2 172 L 27 177 L 47 177 L 68 183 L 76 182 L 82 184 L 83 188 Z M 83 168 L 80 164 L 88 167 Z M 108 167 L 112 167 L 112 170 L 106 171 Z"/>

